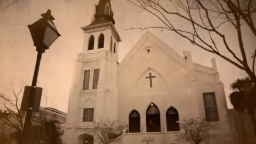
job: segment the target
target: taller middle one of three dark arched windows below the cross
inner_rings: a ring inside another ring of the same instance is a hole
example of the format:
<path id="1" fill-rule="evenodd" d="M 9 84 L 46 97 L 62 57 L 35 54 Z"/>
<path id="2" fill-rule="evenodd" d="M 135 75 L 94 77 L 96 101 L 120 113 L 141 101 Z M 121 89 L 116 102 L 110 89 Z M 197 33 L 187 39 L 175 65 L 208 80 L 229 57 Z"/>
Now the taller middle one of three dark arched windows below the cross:
<path id="1" fill-rule="evenodd" d="M 151 103 L 146 114 L 147 132 L 161 132 L 159 109 L 153 103 Z"/>

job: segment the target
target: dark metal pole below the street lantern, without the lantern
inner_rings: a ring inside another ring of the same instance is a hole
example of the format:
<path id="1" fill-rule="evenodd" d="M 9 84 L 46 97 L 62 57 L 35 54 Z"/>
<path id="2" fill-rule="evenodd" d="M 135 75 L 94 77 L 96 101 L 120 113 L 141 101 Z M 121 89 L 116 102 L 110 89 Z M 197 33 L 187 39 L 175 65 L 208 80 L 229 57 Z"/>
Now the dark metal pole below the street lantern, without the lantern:
<path id="1" fill-rule="evenodd" d="M 35 101 L 35 93 L 36 93 L 36 83 L 37 83 L 37 77 L 38 77 L 38 71 L 39 71 L 39 66 L 42 58 L 42 52 L 37 52 L 37 58 L 36 58 L 36 66 L 35 66 L 35 71 L 34 71 L 34 76 L 33 76 L 33 81 L 31 84 L 31 91 L 30 91 L 30 97 L 29 97 L 29 103 L 28 103 L 28 108 L 26 111 L 26 116 L 25 116 L 25 122 L 23 125 L 23 130 L 21 134 L 21 141 L 20 143 L 27 143 L 25 139 L 29 139 L 29 129 L 30 129 L 30 124 L 31 124 L 31 119 L 33 116 L 33 107 L 34 107 L 34 101 Z"/>

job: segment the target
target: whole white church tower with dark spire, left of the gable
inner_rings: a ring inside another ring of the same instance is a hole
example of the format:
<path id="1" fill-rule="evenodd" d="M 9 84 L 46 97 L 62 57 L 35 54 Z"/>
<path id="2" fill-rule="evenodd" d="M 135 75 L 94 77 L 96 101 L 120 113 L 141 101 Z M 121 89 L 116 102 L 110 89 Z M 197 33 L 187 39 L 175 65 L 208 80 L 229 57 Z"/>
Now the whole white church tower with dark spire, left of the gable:
<path id="1" fill-rule="evenodd" d="M 77 135 L 73 134 L 80 133 L 92 121 L 117 118 L 117 60 L 121 38 L 113 16 L 110 0 L 99 0 L 90 25 L 81 28 L 84 44 L 82 53 L 78 54 L 69 95 L 66 132 L 70 134 L 67 137 L 73 138 L 68 138 L 68 143 L 76 143 Z"/>

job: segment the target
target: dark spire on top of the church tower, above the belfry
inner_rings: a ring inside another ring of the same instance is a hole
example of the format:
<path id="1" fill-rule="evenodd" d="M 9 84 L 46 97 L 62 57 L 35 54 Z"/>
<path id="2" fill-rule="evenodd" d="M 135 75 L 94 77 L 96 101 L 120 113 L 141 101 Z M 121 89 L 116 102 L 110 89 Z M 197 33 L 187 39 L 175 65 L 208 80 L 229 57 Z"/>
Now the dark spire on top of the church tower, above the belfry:
<path id="1" fill-rule="evenodd" d="M 111 9 L 110 0 L 99 0 L 99 4 L 95 5 L 94 16 L 89 26 L 98 25 L 100 23 L 106 22 L 112 22 L 113 25 L 115 25 L 116 22 L 113 16 L 114 13 Z"/>

